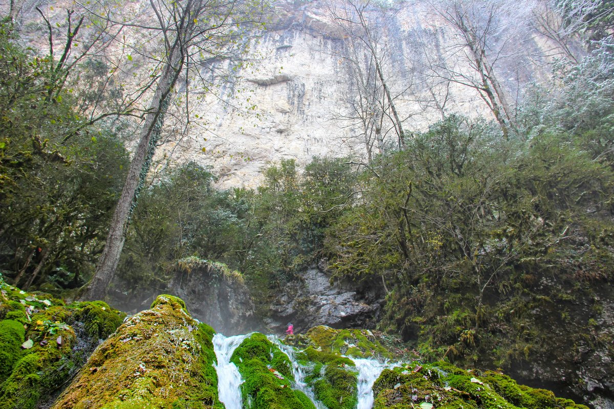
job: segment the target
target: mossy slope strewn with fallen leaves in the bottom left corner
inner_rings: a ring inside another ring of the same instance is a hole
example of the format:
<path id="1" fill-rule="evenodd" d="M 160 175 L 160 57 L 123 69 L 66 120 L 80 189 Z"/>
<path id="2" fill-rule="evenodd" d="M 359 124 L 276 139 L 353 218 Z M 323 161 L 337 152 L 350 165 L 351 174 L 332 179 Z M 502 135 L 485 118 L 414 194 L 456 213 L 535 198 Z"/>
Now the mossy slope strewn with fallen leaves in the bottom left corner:
<path id="1" fill-rule="evenodd" d="M 104 302 L 64 305 L 0 278 L 0 409 L 49 403 L 122 322 Z"/>

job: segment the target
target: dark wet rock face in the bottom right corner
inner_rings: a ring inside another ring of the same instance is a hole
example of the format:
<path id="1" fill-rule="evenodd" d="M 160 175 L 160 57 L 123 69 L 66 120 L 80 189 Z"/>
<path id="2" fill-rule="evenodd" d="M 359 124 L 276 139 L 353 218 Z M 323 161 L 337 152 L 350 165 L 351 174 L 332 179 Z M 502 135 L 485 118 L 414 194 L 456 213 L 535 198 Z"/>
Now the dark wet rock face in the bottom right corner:
<path id="1" fill-rule="evenodd" d="M 548 346 L 507 372 L 519 382 L 546 386 L 593 408 L 614 409 L 614 291 L 602 286 L 578 289 L 576 295 L 534 310 Z"/>

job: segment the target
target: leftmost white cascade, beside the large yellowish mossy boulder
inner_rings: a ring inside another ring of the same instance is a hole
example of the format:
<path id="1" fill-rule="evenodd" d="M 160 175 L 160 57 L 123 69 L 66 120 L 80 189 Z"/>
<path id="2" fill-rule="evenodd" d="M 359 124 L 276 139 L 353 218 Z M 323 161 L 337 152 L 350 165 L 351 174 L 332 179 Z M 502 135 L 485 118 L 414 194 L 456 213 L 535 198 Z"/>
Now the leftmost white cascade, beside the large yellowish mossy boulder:
<path id="1" fill-rule="evenodd" d="M 230 362 L 236 347 L 251 334 L 225 337 L 217 333 L 213 336 L 213 350 L 216 352 L 217 365 L 213 364 L 217 371 L 217 393 L 220 402 L 226 409 L 241 409 L 241 373 L 236 365 Z"/>

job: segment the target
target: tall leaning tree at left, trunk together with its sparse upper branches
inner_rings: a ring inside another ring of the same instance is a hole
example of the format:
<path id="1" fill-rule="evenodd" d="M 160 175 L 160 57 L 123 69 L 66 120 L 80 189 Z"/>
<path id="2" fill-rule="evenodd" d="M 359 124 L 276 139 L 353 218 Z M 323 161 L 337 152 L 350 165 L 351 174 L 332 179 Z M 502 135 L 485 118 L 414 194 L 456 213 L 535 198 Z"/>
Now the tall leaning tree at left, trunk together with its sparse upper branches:
<path id="1" fill-rule="evenodd" d="M 257 0 L 150 0 L 149 6 L 155 23 L 150 19 L 128 20 L 125 26 L 153 33 L 163 42 L 163 52 L 145 55 L 158 63 L 153 74 L 155 92 L 139 132 L 139 142 L 115 208 L 103 254 L 82 299 L 103 298 L 114 277 L 131 208 L 149 171 L 177 80 L 190 68 L 201 72 L 208 61 L 239 59 L 247 39 L 246 29 L 260 26 L 263 11 L 263 4 Z M 108 15 L 106 18 L 112 20 L 114 17 Z"/>

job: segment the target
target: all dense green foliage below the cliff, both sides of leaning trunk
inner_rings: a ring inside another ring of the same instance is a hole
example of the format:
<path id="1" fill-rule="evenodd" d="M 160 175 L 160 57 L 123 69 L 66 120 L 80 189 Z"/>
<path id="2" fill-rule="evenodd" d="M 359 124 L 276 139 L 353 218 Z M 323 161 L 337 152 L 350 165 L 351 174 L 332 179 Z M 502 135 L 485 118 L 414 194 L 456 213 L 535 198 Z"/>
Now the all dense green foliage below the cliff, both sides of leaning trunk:
<path id="1" fill-rule="evenodd" d="M 325 260 L 333 279 L 381 288 L 381 329 L 433 359 L 510 368 L 556 350 L 573 362 L 587 345 L 614 356 L 596 331 L 614 267 L 614 45 L 594 45 L 529 90 L 515 134 L 448 115 L 369 162 L 282 160 L 257 189 L 216 189 L 195 163 L 161 170 L 134 208 L 117 289 L 164 288 L 193 257 L 243 273 L 265 314 Z M 9 25 L 0 50 L 0 268 L 65 294 L 93 272 L 128 155 Z M 569 333 L 554 336 L 553 321 Z"/>

